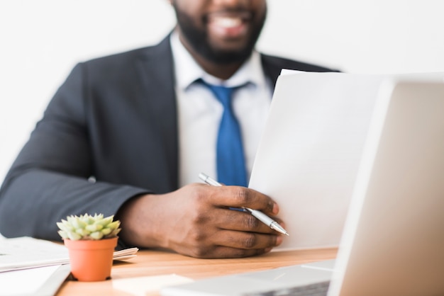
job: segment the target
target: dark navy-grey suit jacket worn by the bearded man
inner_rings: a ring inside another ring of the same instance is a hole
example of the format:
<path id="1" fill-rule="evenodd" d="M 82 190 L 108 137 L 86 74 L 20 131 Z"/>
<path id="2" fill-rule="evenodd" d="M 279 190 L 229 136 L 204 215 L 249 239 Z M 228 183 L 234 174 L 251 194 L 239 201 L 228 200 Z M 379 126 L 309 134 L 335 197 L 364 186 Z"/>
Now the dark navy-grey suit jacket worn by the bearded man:
<path id="1" fill-rule="evenodd" d="M 135 195 L 177 189 L 169 40 L 74 67 L 6 176 L 1 234 L 57 240 L 67 215 L 113 215 Z M 330 71 L 266 55 L 262 64 L 274 83 L 282 68 Z"/>

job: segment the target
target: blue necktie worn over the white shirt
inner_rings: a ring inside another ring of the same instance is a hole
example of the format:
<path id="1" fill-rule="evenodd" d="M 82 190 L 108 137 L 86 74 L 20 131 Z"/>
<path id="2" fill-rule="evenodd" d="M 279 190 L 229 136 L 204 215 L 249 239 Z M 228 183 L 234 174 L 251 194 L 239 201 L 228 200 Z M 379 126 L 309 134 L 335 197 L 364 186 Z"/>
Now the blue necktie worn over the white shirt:
<path id="1" fill-rule="evenodd" d="M 238 120 L 231 104 L 231 95 L 237 88 L 215 86 L 202 81 L 222 103 L 223 114 L 219 125 L 216 164 L 218 181 L 225 185 L 247 186 L 245 156 Z"/>

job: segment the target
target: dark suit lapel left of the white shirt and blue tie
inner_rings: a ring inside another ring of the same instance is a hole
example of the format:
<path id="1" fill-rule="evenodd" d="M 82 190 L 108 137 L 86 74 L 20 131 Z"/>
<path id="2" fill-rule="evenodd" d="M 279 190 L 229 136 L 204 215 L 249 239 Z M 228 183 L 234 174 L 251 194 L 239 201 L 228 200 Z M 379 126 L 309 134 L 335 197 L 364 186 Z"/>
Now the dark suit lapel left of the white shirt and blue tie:
<path id="1" fill-rule="evenodd" d="M 168 35 L 158 45 L 150 47 L 139 59 L 137 67 L 140 83 L 143 85 L 141 95 L 148 113 L 146 120 L 155 134 L 154 141 L 157 141 L 157 144 L 150 143 L 150 147 L 155 147 L 154 153 L 160 156 L 155 163 L 158 166 L 164 164 L 164 167 L 149 171 L 160 173 L 160 176 L 155 176 L 155 180 L 160 182 L 163 182 L 162 179 L 167 180 L 167 183 L 160 187 L 165 187 L 165 190 L 175 190 L 178 186 L 178 135 L 170 36 Z"/>

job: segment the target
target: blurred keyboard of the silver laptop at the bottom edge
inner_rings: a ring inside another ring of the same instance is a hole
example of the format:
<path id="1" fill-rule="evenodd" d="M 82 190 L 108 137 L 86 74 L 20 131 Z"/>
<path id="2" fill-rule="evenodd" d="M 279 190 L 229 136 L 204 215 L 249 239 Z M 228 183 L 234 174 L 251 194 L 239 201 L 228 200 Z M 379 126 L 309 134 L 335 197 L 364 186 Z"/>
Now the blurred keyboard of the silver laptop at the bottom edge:
<path id="1" fill-rule="evenodd" d="M 245 296 L 326 296 L 330 281 L 303 285 L 294 288 L 284 288 L 267 292 L 248 293 Z"/>

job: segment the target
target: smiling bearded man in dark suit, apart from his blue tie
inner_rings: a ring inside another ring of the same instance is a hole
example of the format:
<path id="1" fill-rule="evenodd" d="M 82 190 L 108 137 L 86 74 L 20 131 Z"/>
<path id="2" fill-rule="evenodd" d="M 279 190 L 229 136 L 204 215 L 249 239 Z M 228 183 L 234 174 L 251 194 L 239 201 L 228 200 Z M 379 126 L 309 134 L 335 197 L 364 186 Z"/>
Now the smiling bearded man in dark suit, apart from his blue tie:
<path id="1" fill-rule="evenodd" d="M 228 209 L 282 223 L 272 198 L 196 180 L 197 171 L 216 174 L 223 112 L 206 83 L 239 89 L 233 108 L 248 177 L 281 69 L 329 70 L 254 50 L 265 0 L 171 2 L 178 25 L 159 45 L 74 67 L 6 176 L 1 234 L 57 240 L 55 222 L 101 212 L 121 220 L 121 244 L 188 256 L 253 256 L 282 242 Z"/>

